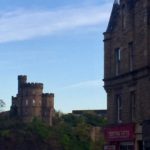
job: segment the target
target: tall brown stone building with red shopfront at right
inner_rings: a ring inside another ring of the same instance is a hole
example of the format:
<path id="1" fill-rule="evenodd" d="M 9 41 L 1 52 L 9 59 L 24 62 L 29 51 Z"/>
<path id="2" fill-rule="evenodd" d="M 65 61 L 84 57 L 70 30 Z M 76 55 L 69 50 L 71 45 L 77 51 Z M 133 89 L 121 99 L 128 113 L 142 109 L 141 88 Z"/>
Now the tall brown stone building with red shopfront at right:
<path id="1" fill-rule="evenodd" d="M 150 149 L 150 135 L 144 139 L 144 127 L 150 130 L 149 45 L 150 1 L 115 0 L 104 33 L 106 149 Z"/>

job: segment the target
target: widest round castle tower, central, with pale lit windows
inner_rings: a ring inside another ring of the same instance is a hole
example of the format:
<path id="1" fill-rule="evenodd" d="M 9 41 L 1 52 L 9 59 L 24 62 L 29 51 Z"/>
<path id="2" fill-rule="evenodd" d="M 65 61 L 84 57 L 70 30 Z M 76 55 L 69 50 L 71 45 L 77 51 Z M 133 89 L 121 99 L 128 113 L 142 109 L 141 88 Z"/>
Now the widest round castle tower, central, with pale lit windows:
<path id="1" fill-rule="evenodd" d="M 22 87 L 22 95 L 19 100 L 22 102 L 22 118 L 25 122 L 32 121 L 34 117 L 41 118 L 41 104 L 43 84 L 27 83 Z"/>

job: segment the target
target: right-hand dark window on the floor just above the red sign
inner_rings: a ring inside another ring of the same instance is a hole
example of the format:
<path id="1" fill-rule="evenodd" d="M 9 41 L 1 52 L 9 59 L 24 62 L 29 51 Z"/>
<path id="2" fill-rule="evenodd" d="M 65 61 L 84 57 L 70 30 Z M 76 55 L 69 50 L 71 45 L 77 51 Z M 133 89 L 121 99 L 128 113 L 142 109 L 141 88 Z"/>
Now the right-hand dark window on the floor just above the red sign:
<path id="1" fill-rule="evenodd" d="M 130 93 L 130 103 L 131 103 L 131 120 L 135 120 L 135 111 L 136 111 L 136 95 L 135 92 Z"/>

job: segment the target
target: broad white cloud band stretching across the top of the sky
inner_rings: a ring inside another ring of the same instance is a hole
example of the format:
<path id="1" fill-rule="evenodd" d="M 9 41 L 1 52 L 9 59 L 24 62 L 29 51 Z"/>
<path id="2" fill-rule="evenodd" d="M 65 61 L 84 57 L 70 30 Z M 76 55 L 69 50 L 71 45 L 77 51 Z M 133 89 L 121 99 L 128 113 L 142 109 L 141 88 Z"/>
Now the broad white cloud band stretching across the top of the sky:
<path id="1" fill-rule="evenodd" d="M 108 20 L 111 3 L 86 8 L 0 12 L 0 43 L 51 35 Z"/>

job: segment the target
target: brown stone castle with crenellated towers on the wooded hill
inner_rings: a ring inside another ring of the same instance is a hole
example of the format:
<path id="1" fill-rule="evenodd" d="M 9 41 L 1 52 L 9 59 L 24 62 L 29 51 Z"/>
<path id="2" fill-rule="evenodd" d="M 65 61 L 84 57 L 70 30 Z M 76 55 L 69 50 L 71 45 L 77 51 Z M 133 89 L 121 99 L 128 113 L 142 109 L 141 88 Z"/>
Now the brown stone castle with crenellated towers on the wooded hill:
<path id="1" fill-rule="evenodd" d="M 43 93 L 42 83 L 27 83 L 27 76 L 18 76 L 18 94 L 12 97 L 11 113 L 23 122 L 39 118 L 52 125 L 54 94 Z"/>

